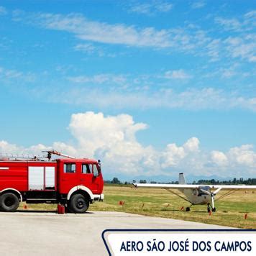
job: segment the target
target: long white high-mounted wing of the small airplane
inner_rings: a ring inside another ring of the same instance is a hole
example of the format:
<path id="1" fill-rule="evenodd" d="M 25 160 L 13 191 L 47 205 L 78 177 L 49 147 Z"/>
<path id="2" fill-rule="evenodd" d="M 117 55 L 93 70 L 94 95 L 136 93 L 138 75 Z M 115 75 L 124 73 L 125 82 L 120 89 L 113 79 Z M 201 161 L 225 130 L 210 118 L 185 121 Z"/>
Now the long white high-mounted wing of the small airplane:
<path id="1" fill-rule="evenodd" d="M 237 190 L 237 189 L 256 189 L 256 186 L 251 185 L 209 185 L 209 184 L 149 184 L 149 183 L 132 183 L 135 188 L 169 188 L 169 189 L 184 189 L 184 188 L 202 188 L 209 187 L 211 189 L 220 188 L 221 190 Z"/>

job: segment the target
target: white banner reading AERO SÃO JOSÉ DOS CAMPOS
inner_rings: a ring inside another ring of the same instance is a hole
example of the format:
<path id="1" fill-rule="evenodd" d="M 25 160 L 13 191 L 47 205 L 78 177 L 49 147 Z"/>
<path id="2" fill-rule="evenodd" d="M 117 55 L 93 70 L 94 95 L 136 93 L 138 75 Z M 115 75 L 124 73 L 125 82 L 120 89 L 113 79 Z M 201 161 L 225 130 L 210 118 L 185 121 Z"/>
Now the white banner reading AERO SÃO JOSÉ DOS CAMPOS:
<path id="1" fill-rule="evenodd" d="M 256 255 L 256 232 L 106 231 L 109 255 Z"/>

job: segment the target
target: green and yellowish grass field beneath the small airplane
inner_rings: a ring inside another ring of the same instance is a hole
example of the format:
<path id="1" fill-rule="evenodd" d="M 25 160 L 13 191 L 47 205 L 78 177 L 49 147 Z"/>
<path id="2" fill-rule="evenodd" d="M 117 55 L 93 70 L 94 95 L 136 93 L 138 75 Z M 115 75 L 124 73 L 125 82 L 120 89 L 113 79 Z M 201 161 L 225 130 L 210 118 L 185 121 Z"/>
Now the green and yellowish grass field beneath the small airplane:
<path id="1" fill-rule="evenodd" d="M 223 192 L 218 195 L 221 196 Z M 129 186 L 105 186 L 104 202 L 96 202 L 90 206 L 91 211 L 125 211 L 147 216 L 160 216 L 171 219 L 198 221 L 207 224 L 219 224 L 243 229 L 256 229 L 256 193 L 237 191 L 226 198 L 216 201 L 216 212 L 211 216 L 206 205 L 192 206 L 189 203 L 164 189 L 131 188 Z M 124 201 L 124 205 L 119 205 Z M 20 207 L 22 209 L 22 206 Z M 28 209 L 55 210 L 53 205 L 29 205 Z M 247 219 L 244 219 L 247 214 Z"/>

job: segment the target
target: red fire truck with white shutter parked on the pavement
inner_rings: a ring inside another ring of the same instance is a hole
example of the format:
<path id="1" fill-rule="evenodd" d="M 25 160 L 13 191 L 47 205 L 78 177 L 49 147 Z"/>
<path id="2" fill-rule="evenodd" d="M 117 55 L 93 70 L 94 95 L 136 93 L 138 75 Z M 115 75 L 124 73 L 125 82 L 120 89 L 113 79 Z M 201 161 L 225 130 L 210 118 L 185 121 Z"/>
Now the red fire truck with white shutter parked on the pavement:
<path id="1" fill-rule="evenodd" d="M 51 160 L 52 154 L 60 155 Z M 20 202 L 62 204 L 83 213 L 93 201 L 103 201 L 100 160 L 78 159 L 55 150 L 37 157 L 0 158 L 0 209 L 16 211 Z"/>

